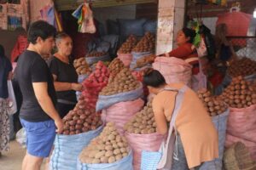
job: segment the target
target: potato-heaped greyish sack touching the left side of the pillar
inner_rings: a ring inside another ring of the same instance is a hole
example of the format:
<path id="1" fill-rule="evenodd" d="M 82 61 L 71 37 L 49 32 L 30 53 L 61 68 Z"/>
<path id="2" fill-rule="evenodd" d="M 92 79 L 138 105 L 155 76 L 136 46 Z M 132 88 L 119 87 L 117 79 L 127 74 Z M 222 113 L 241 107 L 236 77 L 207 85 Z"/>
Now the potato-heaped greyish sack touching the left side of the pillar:
<path id="1" fill-rule="evenodd" d="M 146 32 L 144 37 L 137 43 L 137 46 L 132 49 L 131 69 L 137 65 L 137 59 L 152 54 L 155 48 L 155 38 L 150 32 Z"/>

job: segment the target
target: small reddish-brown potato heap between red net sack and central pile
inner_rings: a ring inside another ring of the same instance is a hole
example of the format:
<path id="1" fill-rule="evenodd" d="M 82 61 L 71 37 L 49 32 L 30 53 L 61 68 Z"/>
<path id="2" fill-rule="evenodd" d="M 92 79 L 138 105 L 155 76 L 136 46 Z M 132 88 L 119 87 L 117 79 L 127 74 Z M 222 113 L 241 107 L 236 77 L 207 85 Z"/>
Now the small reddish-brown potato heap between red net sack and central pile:
<path id="1" fill-rule="evenodd" d="M 113 82 L 114 77 L 124 68 L 125 68 L 125 65 L 119 58 L 113 59 L 110 65 L 108 65 L 108 70 L 110 73 L 108 82 Z"/>

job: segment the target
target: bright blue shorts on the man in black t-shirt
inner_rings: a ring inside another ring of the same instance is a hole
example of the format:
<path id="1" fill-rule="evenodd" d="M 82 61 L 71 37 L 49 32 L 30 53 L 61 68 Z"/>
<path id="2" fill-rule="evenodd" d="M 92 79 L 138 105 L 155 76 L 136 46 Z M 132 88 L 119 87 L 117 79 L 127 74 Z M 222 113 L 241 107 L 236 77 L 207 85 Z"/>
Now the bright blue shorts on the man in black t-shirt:
<path id="1" fill-rule="evenodd" d="M 27 122 L 20 118 L 26 131 L 26 150 L 32 156 L 48 157 L 55 141 L 55 122 Z"/>

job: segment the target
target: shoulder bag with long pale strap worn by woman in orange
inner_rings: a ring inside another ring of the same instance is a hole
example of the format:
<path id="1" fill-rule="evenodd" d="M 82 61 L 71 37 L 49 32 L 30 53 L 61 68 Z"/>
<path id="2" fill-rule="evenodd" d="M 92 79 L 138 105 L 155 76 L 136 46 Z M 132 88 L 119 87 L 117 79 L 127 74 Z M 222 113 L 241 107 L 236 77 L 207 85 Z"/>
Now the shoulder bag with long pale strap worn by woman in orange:
<path id="1" fill-rule="evenodd" d="M 175 122 L 176 122 L 177 114 L 180 111 L 181 105 L 183 103 L 183 96 L 187 88 L 188 88 L 187 86 L 184 86 L 181 89 L 175 89 L 175 88 L 164 89 L 167 91 L 177 92 L 177 95 L 175 97 L 175 107 L 172 113 L 172 119 L 171 119 L 169 130 L 168 130 L 168 136 L 167 136 L 167 139 L 164 139 L 162 141 L 162 144 L 160 144 L 159 151 L 149 152 L 149 151 L 143 150 L 141 170 L 156 170 L 156 169 L 169 170 L 172 168 L 172 157 L 173 157 L 173 151 L 175 147 L 175 140 L 176 140 L 176 133 L 177 133 Z M 175 154 L 174 154 L 174 157 L 176 157 Z"/>

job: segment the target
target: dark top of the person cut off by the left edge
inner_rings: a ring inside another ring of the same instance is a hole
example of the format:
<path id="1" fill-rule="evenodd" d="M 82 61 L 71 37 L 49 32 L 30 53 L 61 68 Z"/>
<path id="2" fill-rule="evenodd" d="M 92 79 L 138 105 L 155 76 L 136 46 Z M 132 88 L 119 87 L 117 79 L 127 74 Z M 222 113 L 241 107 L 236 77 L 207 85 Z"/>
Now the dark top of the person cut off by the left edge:
<path id="1" fill-rule="evenodd" d="M 12 65 L 6 57 L 0 57 L 0 98 L 7 99 L 8 86 L 7 79 L 9 76 L 9 71 L 12 71 Z"/>

